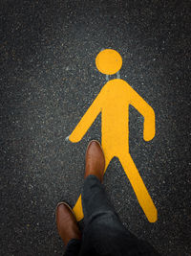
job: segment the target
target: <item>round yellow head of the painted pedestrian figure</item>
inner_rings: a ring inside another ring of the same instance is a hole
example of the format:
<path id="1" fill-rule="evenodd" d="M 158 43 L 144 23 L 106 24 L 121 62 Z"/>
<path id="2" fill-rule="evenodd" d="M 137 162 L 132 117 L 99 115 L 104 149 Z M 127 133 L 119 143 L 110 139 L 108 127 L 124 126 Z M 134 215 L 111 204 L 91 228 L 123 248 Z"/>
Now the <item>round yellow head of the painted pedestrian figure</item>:
<path id="1" fill-rule="evenodd" d="M 122 66 L 122 58 L 113 49 L 105 49 L 96 56 L 96 68 L 105 75 L 116 74 Z"/>

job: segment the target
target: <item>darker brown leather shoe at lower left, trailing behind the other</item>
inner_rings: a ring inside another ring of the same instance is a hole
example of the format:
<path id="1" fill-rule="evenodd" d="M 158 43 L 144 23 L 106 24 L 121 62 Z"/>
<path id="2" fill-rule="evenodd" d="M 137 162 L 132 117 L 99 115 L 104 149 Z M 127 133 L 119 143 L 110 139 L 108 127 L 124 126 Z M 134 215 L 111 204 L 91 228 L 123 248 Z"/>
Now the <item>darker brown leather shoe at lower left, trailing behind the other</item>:
<path id="1" fill-rule="evenodd" d="M 73 210 L 66 202 L 59 202 L 56 207 L 57 230 L 65 245 L 72 239 L 81 239 Z"/>

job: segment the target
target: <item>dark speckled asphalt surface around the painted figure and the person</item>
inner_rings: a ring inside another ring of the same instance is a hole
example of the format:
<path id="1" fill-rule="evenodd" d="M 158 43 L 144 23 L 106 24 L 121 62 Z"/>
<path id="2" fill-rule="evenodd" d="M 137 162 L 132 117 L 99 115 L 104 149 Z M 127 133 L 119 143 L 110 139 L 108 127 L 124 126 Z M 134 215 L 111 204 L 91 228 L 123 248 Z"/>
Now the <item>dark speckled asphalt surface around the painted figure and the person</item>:
<path id="1" fill-rule="evenodd" d="M 121 79 L 156 113 L 145 142 L 130 107 L 129 145 L 159 220 L 147 221 L 117 158 L 104 176 L 108 197 L 161 255 L 190 255 L 189 13 L 189 1 L 175 0 L 1 1 L 0 255 L 63 254 L 55 206 L 74 206 L 101 116 L 79 143 L 65 138 L 106 82 L 95 64 L 103 48 L 117 50 Z"/>

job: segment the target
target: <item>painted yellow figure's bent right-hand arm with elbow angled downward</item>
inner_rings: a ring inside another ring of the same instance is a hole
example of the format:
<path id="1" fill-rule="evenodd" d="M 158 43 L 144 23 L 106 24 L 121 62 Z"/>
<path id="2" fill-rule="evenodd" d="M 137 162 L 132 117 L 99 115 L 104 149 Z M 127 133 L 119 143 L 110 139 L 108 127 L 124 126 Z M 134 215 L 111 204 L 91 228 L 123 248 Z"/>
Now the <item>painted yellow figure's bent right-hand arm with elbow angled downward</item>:
<path id="1" fill-rule="evenodd" d="M 144 117 L 144 140 L 152 140 L 156 132 L 155 112 L 153 108 L 148 105 L 134 89 L 131 90 L 130 104 L 136 107 L 138 112 Z"/>

